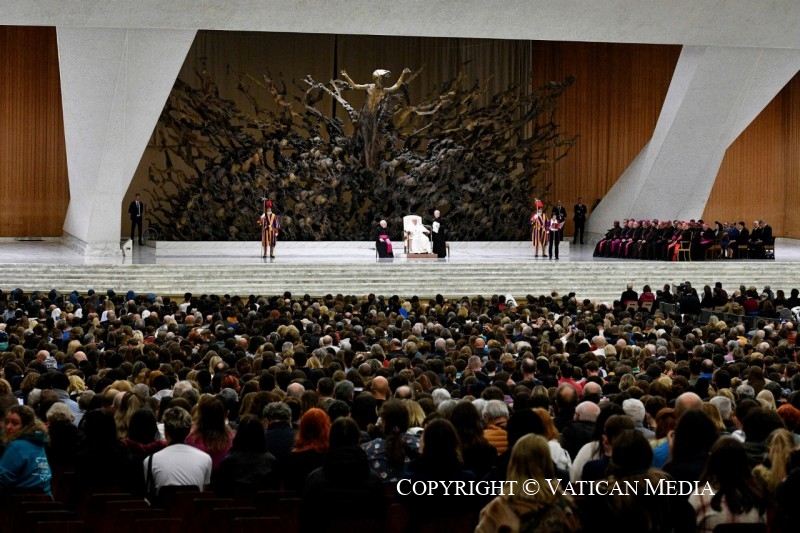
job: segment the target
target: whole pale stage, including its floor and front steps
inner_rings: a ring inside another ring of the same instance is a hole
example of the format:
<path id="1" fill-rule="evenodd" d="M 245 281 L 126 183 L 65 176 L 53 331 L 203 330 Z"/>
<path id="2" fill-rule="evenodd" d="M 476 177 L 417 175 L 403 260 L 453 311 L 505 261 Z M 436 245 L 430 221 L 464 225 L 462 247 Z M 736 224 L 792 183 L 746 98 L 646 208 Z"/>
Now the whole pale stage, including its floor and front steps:
<path id="1" fill-rule="evenodd" d="M 402 248 L 400 248 L 402 250 Z M 800 241 L 778 239 L 776 260 L 653 262 L 593 258 L 593 244 L 561 244 L 559 261 L 535 258 L 524 242 L 450 242 L 447 259 L 378 260 L 372 242 L 280 242 L 262 259 L 258 242 L 164 242 L 134 246 L 126 257 L 86 258 L 60 240 L 0 239 L 0 289 L 9 291 L 113 289 L 182 295 L 397 294 L 430 297 L 565 294 L 612 301 L 628 282 L 637 291 L 691 281 L 800 287 Z"/>

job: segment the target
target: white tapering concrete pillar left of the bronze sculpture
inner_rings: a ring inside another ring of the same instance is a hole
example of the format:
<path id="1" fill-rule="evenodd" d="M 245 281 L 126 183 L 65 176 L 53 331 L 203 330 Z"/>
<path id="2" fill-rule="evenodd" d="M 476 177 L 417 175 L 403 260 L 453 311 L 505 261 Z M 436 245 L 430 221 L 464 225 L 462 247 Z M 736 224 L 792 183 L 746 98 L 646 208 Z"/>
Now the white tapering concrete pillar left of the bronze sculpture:
<path id="1" fill-rule="evenodd" d="M 70 187 L 64 234 L 85 255 L 121 254 L 123 196 L 195 33 L 57 28 Z"/>

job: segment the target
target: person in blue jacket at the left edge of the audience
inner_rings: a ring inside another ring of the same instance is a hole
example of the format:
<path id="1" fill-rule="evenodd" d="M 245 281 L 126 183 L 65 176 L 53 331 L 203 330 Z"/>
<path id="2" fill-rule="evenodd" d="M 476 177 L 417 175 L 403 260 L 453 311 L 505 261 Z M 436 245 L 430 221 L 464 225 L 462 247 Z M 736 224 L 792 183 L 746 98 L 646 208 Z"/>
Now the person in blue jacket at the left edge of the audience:
<path id="1" fill-rule="evenodd" d="M 6 449 L 0 457 L 0 493 L 16 488 L 39 488 L 52 496 L 44 424 L 27 405 L 13 405 L 6 413 L 5 430 Z"/>

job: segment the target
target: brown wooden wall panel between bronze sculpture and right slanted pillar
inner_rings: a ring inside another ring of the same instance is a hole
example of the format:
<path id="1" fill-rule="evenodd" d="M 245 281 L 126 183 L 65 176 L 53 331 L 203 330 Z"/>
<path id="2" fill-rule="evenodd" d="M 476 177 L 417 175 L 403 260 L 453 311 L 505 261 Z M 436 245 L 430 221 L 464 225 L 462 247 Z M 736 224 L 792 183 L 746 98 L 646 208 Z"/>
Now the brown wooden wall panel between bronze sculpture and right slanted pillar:
<path id="1" fill-rule="evenodd" d="M 550 199 L 570 214 L 567 235 L 577 197 L 591 208 L 650 140 L 679 55 L 679 46 L 668 45 L 534 43 L 538 84 L 575 76 L 557 117 L 579 138 L 546 177 Z"/>

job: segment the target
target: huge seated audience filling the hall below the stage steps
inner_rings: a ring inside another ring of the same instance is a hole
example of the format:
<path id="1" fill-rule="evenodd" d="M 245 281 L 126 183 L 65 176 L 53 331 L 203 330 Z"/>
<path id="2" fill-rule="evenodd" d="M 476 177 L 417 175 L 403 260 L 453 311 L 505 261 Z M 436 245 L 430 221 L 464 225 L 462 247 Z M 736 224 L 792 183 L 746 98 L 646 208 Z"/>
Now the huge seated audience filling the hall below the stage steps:
<path id="1" fill-rule="evenodd" d="M 58 471 L 76 473 L 74 504 L 103 486 L 155 501 L 173 485 L 275 489 L 302 498 L 304 531 L 355 502 L 381 530 L 390 494 L 409 531 L 442 518 L 481 532 L 794 530 L 794 322 L 701 324 L 693 310 L 625 305 L 692 290 L 629 286 L 613 303 L 0 293 L 0 491 L 49 494 Z M 765 288 L 759 312 L 798 303 L 797 289 L 778 293 Z M 526 480 L 561 484 L 411 490 Z M 568 488 L 582 481 L 710 491 Z"/>

